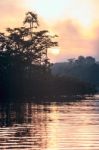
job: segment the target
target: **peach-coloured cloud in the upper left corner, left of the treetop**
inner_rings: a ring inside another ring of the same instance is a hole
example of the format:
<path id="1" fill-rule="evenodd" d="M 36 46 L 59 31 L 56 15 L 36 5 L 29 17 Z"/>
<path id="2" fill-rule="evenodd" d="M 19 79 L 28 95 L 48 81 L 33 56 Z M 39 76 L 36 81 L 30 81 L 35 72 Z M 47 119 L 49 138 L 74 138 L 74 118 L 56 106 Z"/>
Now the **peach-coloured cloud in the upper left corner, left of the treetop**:
<path id="1" fill-rule="evenodd" d="M 23 7 L 24 0 L 3 0 L 0 1 L 0 30 L 4 30 L 8 26 L 17 26 L 20 24 L 22 16 L 25 12 Z"/>

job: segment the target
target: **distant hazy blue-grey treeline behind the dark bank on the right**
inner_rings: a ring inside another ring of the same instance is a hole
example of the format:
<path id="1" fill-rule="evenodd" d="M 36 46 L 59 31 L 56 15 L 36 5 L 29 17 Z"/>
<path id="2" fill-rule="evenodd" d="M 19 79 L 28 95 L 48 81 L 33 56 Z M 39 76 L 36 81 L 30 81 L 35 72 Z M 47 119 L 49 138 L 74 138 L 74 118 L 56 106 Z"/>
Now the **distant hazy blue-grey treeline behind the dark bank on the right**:
<path id="1" fill-rule="evenodd" d="M 99 88 L 99 63 L 91 56 L 79 56 L 77 59 L 69 59 L 68 62 L 54 64 L 52 73 L 75 77 Z"/>

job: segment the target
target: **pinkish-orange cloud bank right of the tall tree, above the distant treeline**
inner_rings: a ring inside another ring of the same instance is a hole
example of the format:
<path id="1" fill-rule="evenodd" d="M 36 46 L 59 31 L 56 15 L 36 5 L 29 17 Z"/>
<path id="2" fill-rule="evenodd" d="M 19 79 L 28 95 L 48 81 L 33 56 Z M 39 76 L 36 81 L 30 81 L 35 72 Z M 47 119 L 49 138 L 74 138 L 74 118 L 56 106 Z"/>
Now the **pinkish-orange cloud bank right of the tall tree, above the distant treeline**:
<path id="1" fill-rule="evenodd" d="M 74 20 L 58 22 L 53 27 L 53 30 L 59 35 L 58 42 L 61 49 L 60 55 L 55 58 L 57 61 L 64 61 L 67 58 L 78 57 L 79 55 L 97 55 L 99 36 L 94 35 L 90 38 L 89 33 L 86 33 L 85 36 L 83 33 L 84 29 Z M 90 32 L 92 32 L 92 30 Z"/>

